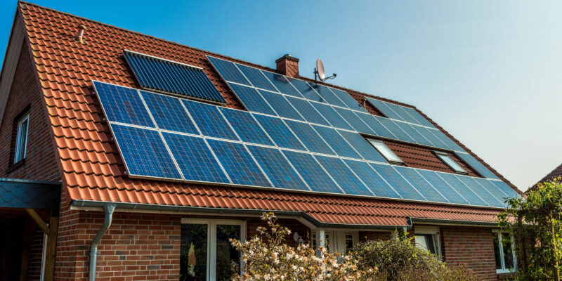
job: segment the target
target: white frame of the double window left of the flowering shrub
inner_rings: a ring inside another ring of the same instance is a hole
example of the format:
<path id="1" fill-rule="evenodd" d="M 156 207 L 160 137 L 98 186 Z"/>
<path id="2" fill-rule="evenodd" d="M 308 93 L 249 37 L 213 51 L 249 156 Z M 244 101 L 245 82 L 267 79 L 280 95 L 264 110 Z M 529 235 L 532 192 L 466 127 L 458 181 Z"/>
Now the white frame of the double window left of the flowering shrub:
<path id="1" fill-rule="evenodd" d="M 246 241 L 246 221 L 229 219 L 181 218 L 181 223 L 207 225 L 207 281 L 216 280 L 216 226 L 240 226 L 240 241 Z M 240 270 L 242 270 L 240 260 Z"/>

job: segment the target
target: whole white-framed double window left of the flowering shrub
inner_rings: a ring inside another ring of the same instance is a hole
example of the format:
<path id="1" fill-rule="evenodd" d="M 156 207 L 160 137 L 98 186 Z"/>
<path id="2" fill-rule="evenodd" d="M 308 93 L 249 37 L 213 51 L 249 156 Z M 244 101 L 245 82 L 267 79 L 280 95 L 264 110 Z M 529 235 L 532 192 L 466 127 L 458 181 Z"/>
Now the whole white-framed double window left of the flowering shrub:
<path id="1" fill-rule="evenodd" d="M 181 281 L 230 280 L 240 253 L 228 241 L 244 241 L 243 221 L 182 219 Z"/>

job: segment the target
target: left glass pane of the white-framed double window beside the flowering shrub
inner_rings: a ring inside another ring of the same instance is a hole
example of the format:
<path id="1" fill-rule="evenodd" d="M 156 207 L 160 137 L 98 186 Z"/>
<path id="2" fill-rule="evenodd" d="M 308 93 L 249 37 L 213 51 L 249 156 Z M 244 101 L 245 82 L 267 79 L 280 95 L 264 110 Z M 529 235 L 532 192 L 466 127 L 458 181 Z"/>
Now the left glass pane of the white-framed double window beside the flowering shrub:
<path id="1" fill-rule="evenodd" d="M 181 225 L 180 280 L 207 280 L 207 225 Z"/>

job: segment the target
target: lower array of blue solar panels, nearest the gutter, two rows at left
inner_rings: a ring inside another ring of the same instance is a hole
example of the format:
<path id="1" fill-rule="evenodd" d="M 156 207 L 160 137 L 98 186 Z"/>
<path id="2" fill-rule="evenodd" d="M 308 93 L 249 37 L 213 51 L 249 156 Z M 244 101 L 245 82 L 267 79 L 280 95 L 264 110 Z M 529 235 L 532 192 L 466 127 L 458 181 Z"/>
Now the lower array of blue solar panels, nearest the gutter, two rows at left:
<path id="1" fill-rule="evenodd" d="M 93 85 L 131 177 L 489 207 L 514 195 L 497 180 L 391 166 L 357 131 Z"/>

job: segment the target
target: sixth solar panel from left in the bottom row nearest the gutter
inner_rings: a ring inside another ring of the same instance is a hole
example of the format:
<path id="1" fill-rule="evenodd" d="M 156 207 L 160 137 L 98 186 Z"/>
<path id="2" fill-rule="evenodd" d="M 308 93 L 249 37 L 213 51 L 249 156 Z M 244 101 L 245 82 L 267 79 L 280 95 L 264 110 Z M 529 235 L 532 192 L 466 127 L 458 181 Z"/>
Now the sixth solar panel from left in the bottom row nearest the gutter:
<path id="1" fill-rule="evenodd" d="M 339 158 L 315 155 L 328 174 L 334 178 L 339 187 L 351 195 L 373 195 L 357 176 Z"/>

